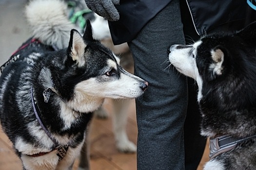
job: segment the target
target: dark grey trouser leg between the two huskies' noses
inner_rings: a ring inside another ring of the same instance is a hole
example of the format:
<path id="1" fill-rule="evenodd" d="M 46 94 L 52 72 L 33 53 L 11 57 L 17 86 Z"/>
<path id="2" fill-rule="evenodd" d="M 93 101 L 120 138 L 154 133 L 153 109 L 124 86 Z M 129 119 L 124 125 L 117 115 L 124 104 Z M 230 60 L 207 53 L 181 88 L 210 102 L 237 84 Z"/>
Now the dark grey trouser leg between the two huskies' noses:
<path id="1" fill-rule="evenodd" d="M 184 170 L 187 81 L 166 62 L 168 48 L 184 43 L 178 0 L 172 0 L 128 43 L 135 74 L 149 83 L 136 100 L 138 170 Z"/>

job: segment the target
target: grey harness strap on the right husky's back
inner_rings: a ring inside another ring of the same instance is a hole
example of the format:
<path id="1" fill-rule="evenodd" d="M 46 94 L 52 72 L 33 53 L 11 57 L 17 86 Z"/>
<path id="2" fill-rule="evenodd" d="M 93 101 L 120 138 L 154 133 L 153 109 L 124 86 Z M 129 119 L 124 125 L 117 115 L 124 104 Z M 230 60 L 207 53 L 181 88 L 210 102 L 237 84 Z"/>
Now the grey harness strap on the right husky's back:
<path id="1" fill-rule="evenodd" d="M 225 153 L 233 150 L 234 148 L 236 148 L 236 145 L 239 142 L 249 140 L 253 137 L 256 137 L 256 135 L 245 137 L 245 138 L 236 138 L 228 135 L 219 136 L 213 139 L 210 138 L 210 154 L 209 154 L 210 160 L 215 158 L 221 153 Z"/>

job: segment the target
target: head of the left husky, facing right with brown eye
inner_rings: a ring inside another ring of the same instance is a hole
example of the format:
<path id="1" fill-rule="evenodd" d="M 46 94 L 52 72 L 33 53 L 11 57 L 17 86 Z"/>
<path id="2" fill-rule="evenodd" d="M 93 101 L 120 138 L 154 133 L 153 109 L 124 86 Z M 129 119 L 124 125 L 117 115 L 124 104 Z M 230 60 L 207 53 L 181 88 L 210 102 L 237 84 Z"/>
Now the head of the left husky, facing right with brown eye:
<path id="1" fill-rule="evenodd" d="M 98 105 L 104 98 L 133 99 L 147 88 L 146 81 L 121 68 L 119 58 L 93 38 L 89 20 L 83 36 L 71 31 L 66 55 L 66 60 L 53 61 L 59 70 L 51 74 L 62 99 L 73 106 Z"/>

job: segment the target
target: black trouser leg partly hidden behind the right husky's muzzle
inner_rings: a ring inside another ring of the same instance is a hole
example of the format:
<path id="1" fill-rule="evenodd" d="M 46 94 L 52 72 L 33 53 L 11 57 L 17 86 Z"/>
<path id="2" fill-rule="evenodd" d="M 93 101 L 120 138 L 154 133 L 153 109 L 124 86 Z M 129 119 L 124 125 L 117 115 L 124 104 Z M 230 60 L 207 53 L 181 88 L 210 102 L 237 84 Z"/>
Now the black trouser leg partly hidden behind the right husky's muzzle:
<path id="1" fill-rule="evenodd" d="M 180 8 L 186 44 L 193 44 L 200 36 L 195 30 L 186 0 L 180 0 Z M 201 114 L 197 103 L 197 92 L 196 81 L 188 78 L 188 109 L 184 124 L 185 170 L 197 170 L 207 140 L 200 135 Z"/>

